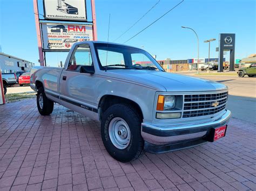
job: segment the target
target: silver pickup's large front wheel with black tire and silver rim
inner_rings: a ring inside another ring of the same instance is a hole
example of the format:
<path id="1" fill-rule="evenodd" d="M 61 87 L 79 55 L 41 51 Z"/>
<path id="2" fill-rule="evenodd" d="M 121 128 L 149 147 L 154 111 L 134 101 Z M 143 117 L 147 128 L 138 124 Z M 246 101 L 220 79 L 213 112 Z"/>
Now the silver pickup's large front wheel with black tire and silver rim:
<path id="1" fill-rule="evenodd" d="M 141 124 L 142 120 L 136 110 L 126 104 L 114 104 L 104 112 L 101 123 L 102 140 L 114 159 L 129 162 L 143 154 Z"/>

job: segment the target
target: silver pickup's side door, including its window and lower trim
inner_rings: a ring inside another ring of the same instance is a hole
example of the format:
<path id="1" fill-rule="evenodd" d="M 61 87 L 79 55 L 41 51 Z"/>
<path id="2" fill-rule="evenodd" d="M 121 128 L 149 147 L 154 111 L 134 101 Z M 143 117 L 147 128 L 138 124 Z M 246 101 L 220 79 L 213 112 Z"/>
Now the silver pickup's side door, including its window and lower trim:
<path id="1" fill-rule="evenodd" d="M 96 76 L 81 73 L 81 68 L 94 70 L 90 46 L 77 45 L 60 77 L 60 102 L 67 108 L 87 117 L 97 119 L 97 105 L 94 97 Z M 83 69 L 82 69 L 83 70 Z"/>

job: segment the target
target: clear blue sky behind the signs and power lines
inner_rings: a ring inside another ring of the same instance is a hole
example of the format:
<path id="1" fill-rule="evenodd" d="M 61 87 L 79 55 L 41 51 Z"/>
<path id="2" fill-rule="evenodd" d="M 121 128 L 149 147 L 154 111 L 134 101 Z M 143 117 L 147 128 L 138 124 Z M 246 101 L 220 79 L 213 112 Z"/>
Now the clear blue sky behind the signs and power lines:
<path id="1" fill-rule="evenodd" d="M 41 1 L 39 8 L 42 8 Z M 90 1 L 86 0 L 88 18 L 91 19 Z M 110 20 L 110 41 L 116 39 L 158 0 L 95 0 L 98 40 L 107 40 L 107 27 Z M 153 20 L 163 15 L 179 1 L 160 0 L 138 24 L 116 43 L 124 43 Z M 157 60 L 172 60 L 197 57 L 197 41 L 193 32 L 180 26 L 192 27 L 200 40 L 200 58 L 207 58 L 208 44 L 203 41 L 217 39 L 211 44 L 211 57 L 217 58 L 219 33 L 235 33 L 235 58 L 245 58 L 256 53 L 256 4 L 255 0 L 185 0 L 180 6 L 160 19 L 149 29 L 133 38 L 127 45 L 144 49 Z M 43 10 L 39 10 L 43 13 Z M 0 45 L 2 52 L 38 64 L 38 48 L 32 0 L 0 0 Z M 48 65 L 57 66 L 65 61 L 64 53 L 48 53 Z"/>

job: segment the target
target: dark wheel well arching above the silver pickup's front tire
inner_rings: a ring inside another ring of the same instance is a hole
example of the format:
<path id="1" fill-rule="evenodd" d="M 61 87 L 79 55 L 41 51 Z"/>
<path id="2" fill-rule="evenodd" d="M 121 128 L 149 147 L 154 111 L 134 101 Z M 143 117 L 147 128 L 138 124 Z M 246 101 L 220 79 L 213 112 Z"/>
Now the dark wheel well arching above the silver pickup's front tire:
<path id="1" fill-rule="evenodd" d="M 104 113 L 104 111 L 106 111 L 111 105 L 118 104 L 118 103 L 126 103 L 130 105 L 131 107 L 136 109 L 136 111 L 140 116 L 140 119 L 143 119 L 142 109 L 140 109 L 139 105 L 136 102 L 124 97 L 105 95 L 102 98 L 100 98 L 100 101 L 99 101 L 98 110 L 99 110 L 100 120 L 102 119 L 102 114 Z"/>

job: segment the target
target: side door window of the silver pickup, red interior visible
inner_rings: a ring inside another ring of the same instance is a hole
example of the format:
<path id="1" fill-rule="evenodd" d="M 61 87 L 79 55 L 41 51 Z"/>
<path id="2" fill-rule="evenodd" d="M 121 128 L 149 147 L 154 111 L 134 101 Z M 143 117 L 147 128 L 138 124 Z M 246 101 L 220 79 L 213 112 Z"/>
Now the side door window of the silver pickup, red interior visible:
<path id="1" fill-rule="evenodd" d="M 68 70 L 80 72 L 81 66 L 92 66 L 92 57 L 89 45 L 77 45 L 69 60 Z"/>

